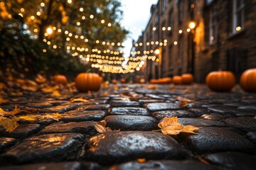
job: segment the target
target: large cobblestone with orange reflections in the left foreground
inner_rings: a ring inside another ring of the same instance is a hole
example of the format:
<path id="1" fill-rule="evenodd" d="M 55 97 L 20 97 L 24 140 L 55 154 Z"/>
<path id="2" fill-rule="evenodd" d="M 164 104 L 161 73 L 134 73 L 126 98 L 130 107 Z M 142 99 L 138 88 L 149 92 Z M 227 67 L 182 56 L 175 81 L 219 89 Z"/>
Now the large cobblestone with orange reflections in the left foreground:
<path id="1" fill-rule="evenodd" d="M 0 155 L 1 164 L 74 160 L 84 143 L 80 134 L 49 134 L 29 137 Z"/>

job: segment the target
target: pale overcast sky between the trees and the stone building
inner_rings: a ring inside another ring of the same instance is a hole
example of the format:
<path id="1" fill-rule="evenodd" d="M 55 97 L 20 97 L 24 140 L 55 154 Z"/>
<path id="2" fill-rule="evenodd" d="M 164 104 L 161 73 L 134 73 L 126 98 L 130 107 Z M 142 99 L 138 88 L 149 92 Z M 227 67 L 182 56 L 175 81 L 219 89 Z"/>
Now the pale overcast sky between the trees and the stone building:
<path id="1" fill-rule="evenodd" d="M 135 41 L 142 35 L 142 30 L 150 17 L 150 7 L 156 4 L 158 0 L 121 0 L 122 10 L 124 11 L 124 20 L 122 26 L 127 28 L 131 33 L 124 42 L 124 56 L 129 56 L 129 50 L 132 47 L 132 39 Z"/>

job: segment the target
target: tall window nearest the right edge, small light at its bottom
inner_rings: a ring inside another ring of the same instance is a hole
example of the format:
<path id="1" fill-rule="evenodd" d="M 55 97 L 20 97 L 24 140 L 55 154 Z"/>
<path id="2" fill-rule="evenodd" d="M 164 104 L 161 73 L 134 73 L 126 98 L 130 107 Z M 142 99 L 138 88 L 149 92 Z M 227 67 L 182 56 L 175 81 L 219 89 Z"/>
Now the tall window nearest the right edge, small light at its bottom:
<path id="1" fill-rule="evenodd" d="M 233 33 L 244 28 L 245 2 L 244 0 L 233 0 Z"/>

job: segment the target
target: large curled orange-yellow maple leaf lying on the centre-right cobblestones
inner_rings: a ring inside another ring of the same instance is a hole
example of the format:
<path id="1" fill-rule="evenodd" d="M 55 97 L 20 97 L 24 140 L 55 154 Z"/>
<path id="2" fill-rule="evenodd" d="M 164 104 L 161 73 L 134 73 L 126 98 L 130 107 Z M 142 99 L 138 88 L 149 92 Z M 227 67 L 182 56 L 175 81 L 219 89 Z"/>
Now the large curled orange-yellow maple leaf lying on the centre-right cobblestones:
<path id="1" fill-rule="evenodd" d="M 181 123 L 178 122 L 177 117 L 164 118 L 158 126 L 161 128 L 161 132 L 164 135 L 178 135 L 180 132 L 196 134 L 193 130 L 198 130 L 197 127 L 192 125 L 181 125 Z"/>

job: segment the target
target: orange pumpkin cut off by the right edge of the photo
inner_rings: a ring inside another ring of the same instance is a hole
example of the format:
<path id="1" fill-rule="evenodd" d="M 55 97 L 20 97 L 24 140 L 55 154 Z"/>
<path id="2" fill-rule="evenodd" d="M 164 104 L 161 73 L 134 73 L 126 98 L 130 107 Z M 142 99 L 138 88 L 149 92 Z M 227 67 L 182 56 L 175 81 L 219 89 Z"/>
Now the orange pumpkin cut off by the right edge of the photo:
<path id="1" fill-rule="evenodd" d="M 256 92 L 256 68 L 247 69 L 240 77 L 242 89 L 248 92 Z"/>

